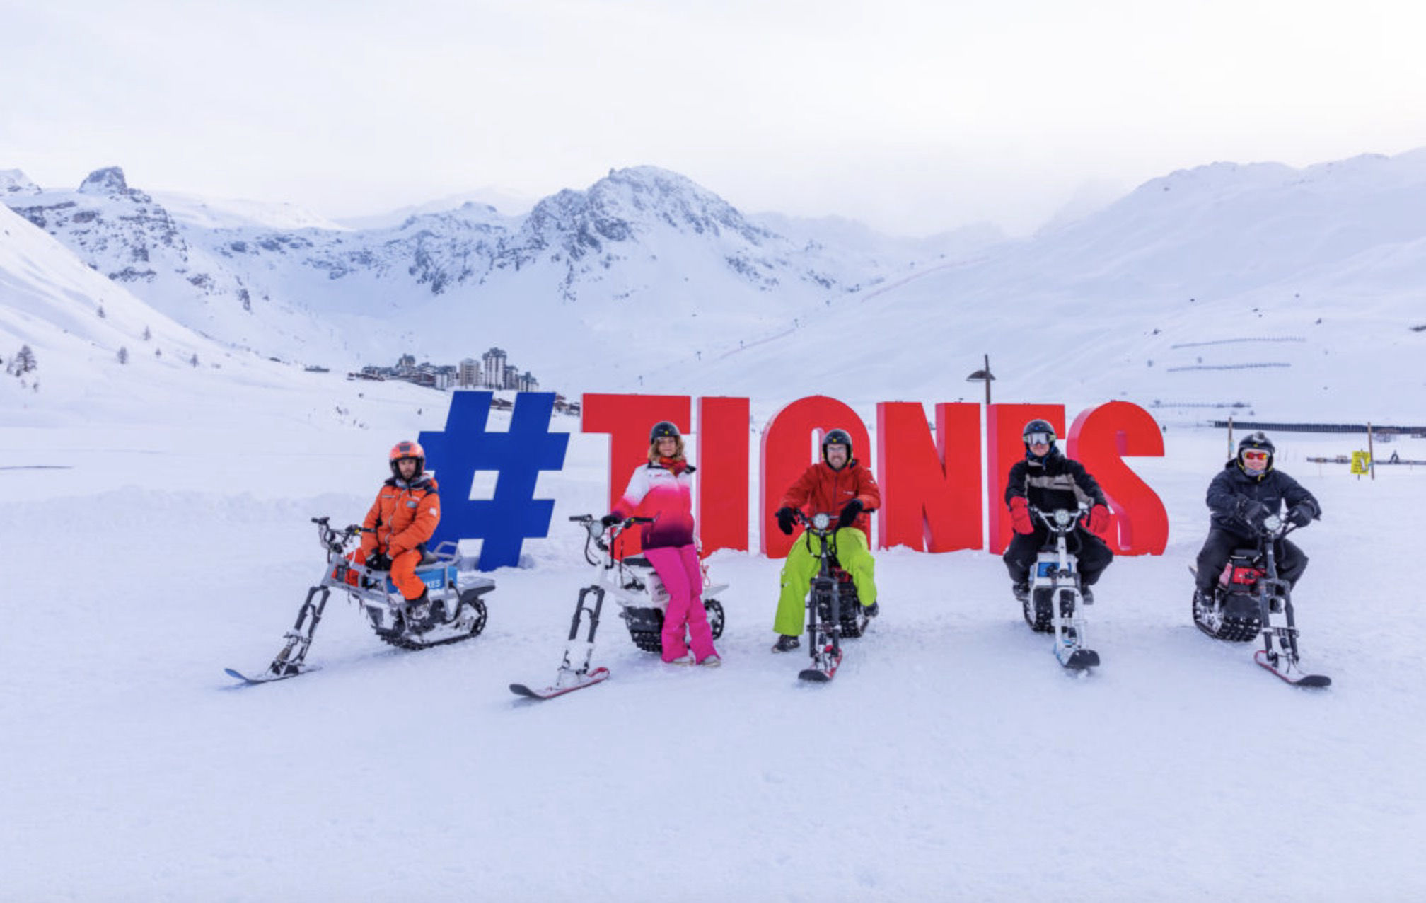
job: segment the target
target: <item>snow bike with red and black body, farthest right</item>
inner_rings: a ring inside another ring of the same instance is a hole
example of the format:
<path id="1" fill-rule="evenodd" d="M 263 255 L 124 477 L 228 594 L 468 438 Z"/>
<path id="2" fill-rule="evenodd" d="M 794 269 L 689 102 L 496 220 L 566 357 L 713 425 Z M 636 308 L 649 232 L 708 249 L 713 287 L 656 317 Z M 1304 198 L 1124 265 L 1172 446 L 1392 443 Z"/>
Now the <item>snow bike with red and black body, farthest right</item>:
<path id="1" fill-rule="evenodd" d="M 1298 655 L 1298 623 L 1292 611 L 1292 585 L 1278 576 L 1278 544 L 1296 529 L 1279 515 L 1268 515 L 1256 526 L 1253 548 L 1233 549 L 1224 572 L 1205 598 L 1194 589 L 1194 625 L 1226 642 L 1249 642 L 1262 636 L 1253 660 L 1295 686 L 1329 686 L 1325 675 L 1302 670 Z M 1194 576 L 1198 569 L 1189 566 Z M 1273 623 L 1281 615 L 1282 623 Z M 1276 649 L 1273 643 L 1276 642 Z"/>

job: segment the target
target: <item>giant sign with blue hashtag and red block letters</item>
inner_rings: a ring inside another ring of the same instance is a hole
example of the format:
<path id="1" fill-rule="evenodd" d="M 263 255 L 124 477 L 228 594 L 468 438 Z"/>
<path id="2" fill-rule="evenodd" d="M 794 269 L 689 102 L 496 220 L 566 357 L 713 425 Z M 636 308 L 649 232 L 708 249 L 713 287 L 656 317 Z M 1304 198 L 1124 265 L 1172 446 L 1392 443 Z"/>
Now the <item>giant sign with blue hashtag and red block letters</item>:
<path id="1" fill-rule="evenodd" d="M 491 392 L 455 392 L 445 429 L 419 437 L 428 466 L 442 486 L 442 521 L 432 542 L 481 539 L 485 571 L 516 565 L 525 539 L 549 535 L 555 502 L 535 498 L 535 481 L 540 471 L 563 469 L 569 445 L 568 434 L 550 431 L 552 392 L 516 395 L 508 429 L 489 428 L 492 398 Z M 847 404 L 826 395 L 793 401 L 763 429 L 754 505 L 749 504 L 753 475 L 747 398 L 590 394 L 582 399 L 580 428 L 609 435 L 610 508 L 633 468 L 647 459 L 653 424 L 670 421 L 696 437 L 689 456 L 699 466 L 696 516 L 704 555 L 747 549 L 750 524 L 759 528 L 763 553 L 786 555 L 793 541 L 776 528 L 773 511 L 787 486 L 817 459 L 816 438 L 834 428 L 851 435 L 857 459 L 881 485 L 873 538 L 877 548 L 988 548 L 1000 553 L 1011 536 L 1005 475 L 1024 455 L 1021 428 L 1041 418 L 1065 437 L 1064 452 L 1084 464 L 1108 496 L 1109 548 L 1119 555 L 1164 552 L 1164 504 L 1124 462 L 1129 456 L 1164 455 L 1162 432 L 1144 408 L 1125 401 L 1088 408 L 1068 432 L 1064 405 L 1058 404 L 937 404 L 930 417 L 934 429 L 920 402 L 877 404 L 873 447 L 866 424 Z M 489 491 L 468 498 L 478 478 Z M 985 512 L 988 538 L 983 528 Z"/>

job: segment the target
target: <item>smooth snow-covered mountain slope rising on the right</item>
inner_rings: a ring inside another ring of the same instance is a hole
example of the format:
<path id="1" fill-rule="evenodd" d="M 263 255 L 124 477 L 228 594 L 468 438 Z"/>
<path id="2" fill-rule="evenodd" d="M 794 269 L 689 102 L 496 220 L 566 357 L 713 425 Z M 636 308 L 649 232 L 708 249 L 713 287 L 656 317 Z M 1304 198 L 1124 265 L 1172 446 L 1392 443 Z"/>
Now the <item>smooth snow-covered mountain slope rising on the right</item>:
<path id="1" fill-rule="evenodd" d="M 777 367 L 790 395 L 878 385 L 974 401 L 981 387 L 964 377 L 990 354 L 1000 401 L 1417 422 L 1423 208 L 1426 150 L 1172 173 L 1078 223 L 830 298 L 826 318 L 645 379 L 714 391 Z"/>

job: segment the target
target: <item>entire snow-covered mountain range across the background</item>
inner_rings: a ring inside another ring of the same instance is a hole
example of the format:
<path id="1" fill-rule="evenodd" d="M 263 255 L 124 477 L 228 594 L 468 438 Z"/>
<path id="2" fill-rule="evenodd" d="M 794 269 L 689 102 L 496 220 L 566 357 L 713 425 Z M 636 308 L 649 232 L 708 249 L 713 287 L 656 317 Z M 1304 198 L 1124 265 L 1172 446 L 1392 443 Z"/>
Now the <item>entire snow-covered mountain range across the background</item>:
<path id="1" fill-rule="evenodd" d="M 1426 150 L 1178 171 L 1021 241 L 746 217 L 653 167 L 522 217 L 468 203 L 372 230 L 191 198 L 174 213 L 117 170 L 73 193 L 16 171 L 0 185 L 174 320 L 284 359 L 498 344 L 570 392 L 716 394 L 756 371 L 787 394 L 930 401 L 978 397 L 964 374 L 990 354 L 1004 401 L 1128 398 L 1168 419 L 1266 417 L 1268 398 L 1273 417 L 1426 407 Z"/>

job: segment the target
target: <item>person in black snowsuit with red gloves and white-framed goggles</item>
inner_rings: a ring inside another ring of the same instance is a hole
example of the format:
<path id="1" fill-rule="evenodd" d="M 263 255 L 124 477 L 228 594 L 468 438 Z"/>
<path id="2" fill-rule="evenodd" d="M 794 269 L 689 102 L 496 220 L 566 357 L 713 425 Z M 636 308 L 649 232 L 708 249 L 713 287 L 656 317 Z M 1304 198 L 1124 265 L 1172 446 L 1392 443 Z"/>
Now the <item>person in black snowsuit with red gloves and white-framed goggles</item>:
<path id="1" fill-rule="evenodd" d="M 1079 562 L 1081 592 L 1085 602 L 1094 599 L 1089 591 L 1114 561 L 1114 552 L 1099 538 L 1109 526 L 1109 508 L 1104 491 L 1084 465 L 1060 454 L 1055 445 L 1055 429 L 1047 421 L 1034 419 L 1025 424 L 1021 438 L 1025 442 L 1025 459 L 1010 468 L 1005 481 L 1005 504 L 1010 505 L 1010 521 L 1015 536 L 1005 549 L 1004 562 L 1010 571 L 1015 598 L 1030 596 L 1030 569 L 1035 566 L 1040 549 L 1045 546 L 1050 528 L 1031 515 L 1030 508 L 1054 511 L 1089 505 L 1089 514 L 1075 525 L 1068 536 L 1070 551 Z"/>

